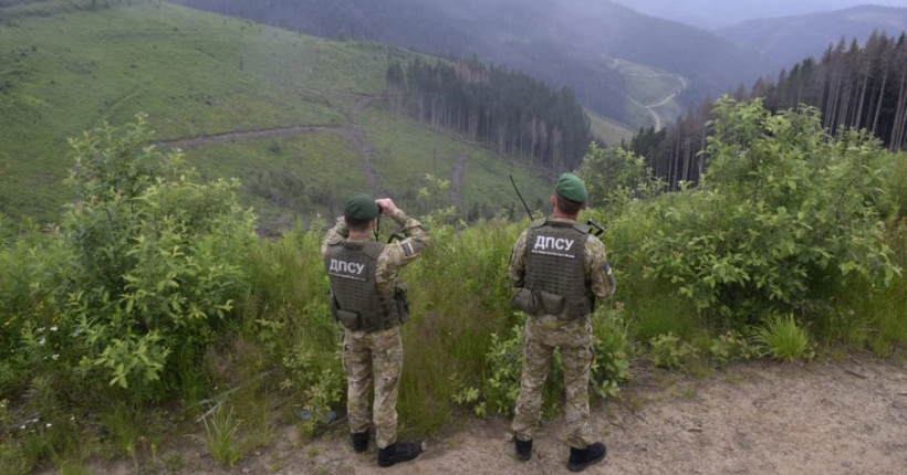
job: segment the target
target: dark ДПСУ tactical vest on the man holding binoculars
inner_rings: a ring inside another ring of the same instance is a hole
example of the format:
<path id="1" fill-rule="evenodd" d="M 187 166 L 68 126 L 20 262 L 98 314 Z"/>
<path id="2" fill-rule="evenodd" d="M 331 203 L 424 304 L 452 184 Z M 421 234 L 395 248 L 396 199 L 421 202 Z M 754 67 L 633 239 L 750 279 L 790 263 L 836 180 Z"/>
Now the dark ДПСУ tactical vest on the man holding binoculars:
<path id="1" fill-rule="evenodd" d="M 402 321 L 396 296 L 378 294 L 375 274 L 382 251 L 384 244 L 374 241 L 327 243 L 324 268 L 331 279 L 331 310 L 353 331 L 385 330 Z"/>

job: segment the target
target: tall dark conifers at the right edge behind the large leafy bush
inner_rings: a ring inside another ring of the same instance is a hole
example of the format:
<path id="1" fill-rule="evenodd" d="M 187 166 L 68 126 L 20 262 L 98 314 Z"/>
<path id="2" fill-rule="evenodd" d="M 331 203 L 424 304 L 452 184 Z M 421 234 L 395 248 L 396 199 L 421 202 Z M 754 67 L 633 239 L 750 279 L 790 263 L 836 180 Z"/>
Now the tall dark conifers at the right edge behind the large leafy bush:
<path id="1" fill-rule="evenodd" d="M 733 98 L 762 97 L 773 112 L 813 106 L 828 134 L 842 127 L 865 129 L 892 150 L 907 149 L 907 35 L 872 34 L 863 48 L 856 40 L 828 46 L 820 61 L 807 57 L 778 80 L 759 80 L 752 91 Z M 629 148 L 644 155 L 656 175 L 673 188 L 697 181 L 708 157 L 705 149 L 711 103 L 703 102 L 665 130 L 651 128 L 634 137 Z"/>

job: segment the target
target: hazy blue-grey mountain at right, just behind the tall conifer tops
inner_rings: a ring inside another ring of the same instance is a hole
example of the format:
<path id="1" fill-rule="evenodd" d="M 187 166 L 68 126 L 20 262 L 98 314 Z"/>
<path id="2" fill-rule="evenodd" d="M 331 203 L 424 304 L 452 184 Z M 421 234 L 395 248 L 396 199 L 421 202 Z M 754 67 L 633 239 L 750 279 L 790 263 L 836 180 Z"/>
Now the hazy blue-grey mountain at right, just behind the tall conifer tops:
<path id="1" fill-rule="evenodd" d="M 907 7 L 907 2 L 904 2 Z M 775 71 L 806 56 L 819 56 L 830 43 L 853 38 L 864 43 L 873 31 L 897 36 L 907 30 L 907 8 L 863 6 L 800 17 L 752 20 L 717 30 L 737 44 L 759 51 Z"/>

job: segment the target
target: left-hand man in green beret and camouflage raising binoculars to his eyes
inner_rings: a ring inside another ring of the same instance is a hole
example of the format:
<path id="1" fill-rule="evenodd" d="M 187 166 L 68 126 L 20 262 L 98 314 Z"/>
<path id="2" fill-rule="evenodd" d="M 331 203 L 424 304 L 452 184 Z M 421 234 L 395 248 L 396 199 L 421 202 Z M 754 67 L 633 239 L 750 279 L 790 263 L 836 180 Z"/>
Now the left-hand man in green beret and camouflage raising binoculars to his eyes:
<path id="1" fill-rule="evenodd" d="M 406 235 L 384 245 L 372 239 L 378 215 L 389 217 Z M 416 458 L 420 443 L 397 442 L 397 390 L 403 371 L 400 324 L 408 316 L 405 288 L 397 274 L 428 245 L 421 223 L 390 199 L 353 196 L 344 215 L 327 232 L 321 252 L 331 279 L 331 309 L 343 324 L 343 367 L 347 378 L 346 409 L 353 448 L 368 448 L 368 395 L 374 380 L 375 440 L 378 465 Z"/>

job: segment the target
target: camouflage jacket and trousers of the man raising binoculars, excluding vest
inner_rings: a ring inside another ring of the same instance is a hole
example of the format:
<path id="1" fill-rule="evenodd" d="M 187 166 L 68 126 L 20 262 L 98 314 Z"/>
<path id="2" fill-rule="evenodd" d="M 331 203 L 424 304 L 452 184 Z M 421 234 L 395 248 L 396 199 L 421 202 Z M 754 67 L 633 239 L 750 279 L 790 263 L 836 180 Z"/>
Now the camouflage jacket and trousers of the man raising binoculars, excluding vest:
<path id="1" fill-rule="evenodd" d="M 390 217 L 402 226 L 406 239 L 384 247 L 377 258 L 376 285 L 378 293 L 393 297 L 399 271 L 416 260 L 428 245 L 428 233 L 421 223 L 397 211 Z M 343 217 L 327 232 L 321 246 L 322 255 L 329 242 L 346 240 L 350 231 Z M 368 393 L 372 379 L 375 380 L 374 423 L 378 448 L 397 441 L 397 391 L 403 371 L 403 340 L 400 327 L 395 326 L 375 332 L 351 331 L 344 328 L 343 368 L 346 371 L 346 410 L 350 432 L 359 433 L 368 429 L 372 416 L 368 411 Z"/>

